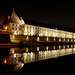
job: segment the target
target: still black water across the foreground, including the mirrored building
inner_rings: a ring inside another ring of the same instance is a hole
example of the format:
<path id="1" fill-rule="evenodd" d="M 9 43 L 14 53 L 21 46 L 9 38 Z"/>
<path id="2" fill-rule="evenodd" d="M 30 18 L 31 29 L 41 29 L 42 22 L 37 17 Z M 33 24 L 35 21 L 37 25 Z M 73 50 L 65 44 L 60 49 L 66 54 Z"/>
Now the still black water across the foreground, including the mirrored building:
<path id="1" fill-rule="evenodd" d="M 0 72 L 65 73 L 75 68 L 75 45 L 0 47 Z M 68 71 L 67 71 L 68 70 Z"/>

